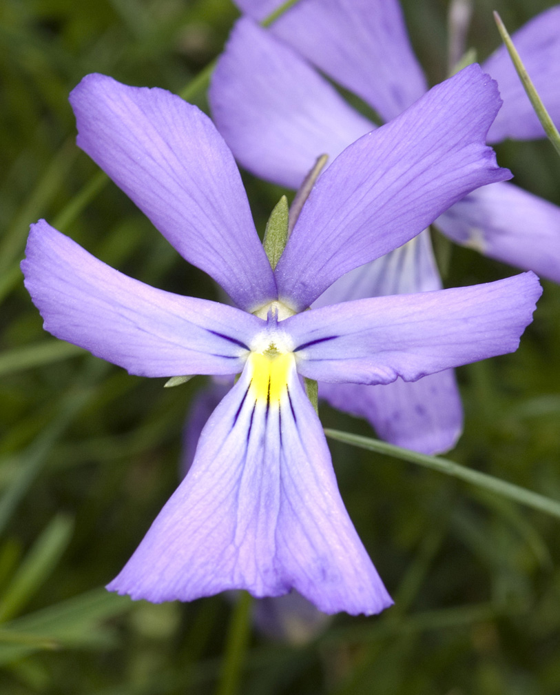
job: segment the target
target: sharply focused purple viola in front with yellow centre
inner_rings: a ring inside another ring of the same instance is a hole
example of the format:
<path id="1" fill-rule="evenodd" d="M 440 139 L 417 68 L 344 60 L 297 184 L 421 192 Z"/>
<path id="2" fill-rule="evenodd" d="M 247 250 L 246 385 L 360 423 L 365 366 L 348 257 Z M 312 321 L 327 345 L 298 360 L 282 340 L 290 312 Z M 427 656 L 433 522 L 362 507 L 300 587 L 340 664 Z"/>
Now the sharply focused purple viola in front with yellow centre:
<path id="1" fill-rule="evenodd" d="M 236 304 L 152 288 L 44 220 L 32 225 L 22 268 L 46 330 L 136 375 L 241 373 L 108 589 L 156 603 L 296 589 L 326 613 L 379 612 L 391 598 L 344 508 L 301 377 L 384 384 L 510 352 L 541 288 L 525 273 L 305 309 L 469 190 L 509 176 L 484 145 L 500 104 L 493 81 L 471 66 L 344 150 L 274 269 L 233 156 L 198 108 L 99 74 L 70 101 L 78 145 Z"/>

